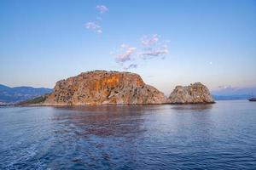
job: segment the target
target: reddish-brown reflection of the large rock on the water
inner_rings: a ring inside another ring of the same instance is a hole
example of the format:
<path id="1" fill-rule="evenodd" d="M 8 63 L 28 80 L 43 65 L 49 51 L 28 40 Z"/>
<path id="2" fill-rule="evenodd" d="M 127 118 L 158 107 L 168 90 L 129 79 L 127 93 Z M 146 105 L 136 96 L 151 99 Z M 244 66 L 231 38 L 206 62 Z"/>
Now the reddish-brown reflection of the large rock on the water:
<path id="1" fill-rule="evenodd" d="M 145 111 L 154 109 L 154 105 L 99 105 L 77 107 L 55 107 L 53 121 L 65 126 L 77 128 L 78 135 L 124 136 L 143 133 Z M 60 129 L 61 130 L 61 129 Z"/>

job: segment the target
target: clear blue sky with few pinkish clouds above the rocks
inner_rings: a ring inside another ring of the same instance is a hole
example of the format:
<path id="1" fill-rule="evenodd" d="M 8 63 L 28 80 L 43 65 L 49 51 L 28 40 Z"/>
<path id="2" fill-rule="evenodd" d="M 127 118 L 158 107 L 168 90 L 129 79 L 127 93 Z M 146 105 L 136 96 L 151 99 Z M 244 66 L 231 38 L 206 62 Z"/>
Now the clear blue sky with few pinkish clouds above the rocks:
<path id="1" fill-rule="evenodd" d="M 256 86 L 255 0 L 0 0 L 0 83 L 131 71 L 170 94 Z"/>

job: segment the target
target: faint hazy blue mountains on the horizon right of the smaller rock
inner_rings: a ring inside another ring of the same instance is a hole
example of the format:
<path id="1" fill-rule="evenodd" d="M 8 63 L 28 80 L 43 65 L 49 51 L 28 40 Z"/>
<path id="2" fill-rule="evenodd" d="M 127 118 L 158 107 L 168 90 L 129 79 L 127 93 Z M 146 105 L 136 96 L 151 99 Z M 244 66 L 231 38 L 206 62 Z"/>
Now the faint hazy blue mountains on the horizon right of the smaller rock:
<path id="1" fill-rule="evenodd" d="M 220 88 L 211 92 L 215 100 L 249 99 L 256 96 L 256 87 L 252 88 Z"/>

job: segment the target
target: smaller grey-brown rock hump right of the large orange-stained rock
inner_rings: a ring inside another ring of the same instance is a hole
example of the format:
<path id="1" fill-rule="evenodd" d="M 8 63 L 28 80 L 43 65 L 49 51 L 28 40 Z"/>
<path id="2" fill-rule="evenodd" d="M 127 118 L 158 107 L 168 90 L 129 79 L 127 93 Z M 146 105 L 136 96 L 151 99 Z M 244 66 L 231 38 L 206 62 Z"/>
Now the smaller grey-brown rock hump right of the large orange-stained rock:
<path id="1" fill-rule="evenodd" d="M 214 103 L 206 86 L 201 82 L 195 82 L 190 86 L 177 86 L 169 96 L 171 104 L 199 104 Z"/>

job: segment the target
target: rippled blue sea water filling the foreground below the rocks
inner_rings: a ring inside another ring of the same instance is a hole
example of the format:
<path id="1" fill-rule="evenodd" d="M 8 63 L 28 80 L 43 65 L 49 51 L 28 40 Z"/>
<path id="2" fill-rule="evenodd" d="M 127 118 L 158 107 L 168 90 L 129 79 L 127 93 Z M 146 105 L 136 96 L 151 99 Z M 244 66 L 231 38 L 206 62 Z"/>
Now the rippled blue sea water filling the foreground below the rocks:
<path id="1" fill-rule="evenodd" d="M 256 102 L 2 107 L 0 169 L 256 169 Z"/>

